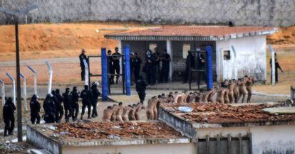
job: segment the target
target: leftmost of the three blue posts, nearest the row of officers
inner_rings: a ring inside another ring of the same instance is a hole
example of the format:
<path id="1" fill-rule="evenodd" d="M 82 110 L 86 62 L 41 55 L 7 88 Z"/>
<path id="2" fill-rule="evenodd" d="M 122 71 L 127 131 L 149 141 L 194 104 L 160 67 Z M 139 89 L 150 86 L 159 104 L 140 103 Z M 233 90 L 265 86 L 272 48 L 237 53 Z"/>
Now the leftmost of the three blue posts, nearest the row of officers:
<path id="1" fill-rule="evenodd" d="M 101 91 L 103 93 L 103 101 L 108 100 L 108 60 L 106 48 L 101 49 Z"/>

